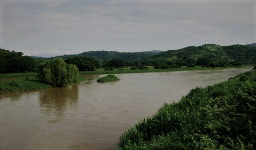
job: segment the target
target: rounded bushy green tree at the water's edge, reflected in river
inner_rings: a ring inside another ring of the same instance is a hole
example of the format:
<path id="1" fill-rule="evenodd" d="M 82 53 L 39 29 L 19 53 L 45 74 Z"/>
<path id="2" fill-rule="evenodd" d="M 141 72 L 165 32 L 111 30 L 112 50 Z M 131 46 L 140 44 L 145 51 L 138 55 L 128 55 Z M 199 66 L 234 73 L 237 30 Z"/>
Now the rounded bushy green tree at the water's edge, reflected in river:
<path id="1" fill-rule="evenodd" d="M 53 87 L 66 87 L 78 81 L 79 71 L 74 64 L 66 64 L 63 59 L 57 58 L 41 63 L 37 77 Z"/>

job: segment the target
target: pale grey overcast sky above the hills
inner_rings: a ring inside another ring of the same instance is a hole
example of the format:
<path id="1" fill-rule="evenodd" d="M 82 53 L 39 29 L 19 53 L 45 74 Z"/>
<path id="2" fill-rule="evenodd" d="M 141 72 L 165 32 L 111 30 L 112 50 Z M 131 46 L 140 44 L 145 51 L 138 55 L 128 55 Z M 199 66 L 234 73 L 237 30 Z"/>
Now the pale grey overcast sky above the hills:
<path id="1" fill-rule="evenodd" d="M 0 47 L 31 56 L 256 43 L 256 0 L 0 0 Z"/>

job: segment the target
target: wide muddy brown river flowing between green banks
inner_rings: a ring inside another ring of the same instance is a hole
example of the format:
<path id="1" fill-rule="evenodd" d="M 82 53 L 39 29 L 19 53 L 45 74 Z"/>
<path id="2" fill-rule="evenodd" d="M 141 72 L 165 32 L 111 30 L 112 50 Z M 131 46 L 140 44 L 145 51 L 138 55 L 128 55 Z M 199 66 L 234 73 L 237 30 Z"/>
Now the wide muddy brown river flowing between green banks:
<path id="1" fill-rule="evenodd" d="M 0 150 L 115 150 L 119 136 L 194 87 L 222 82 L 243 69 L 116 74 L 19 94 L 0 95 Z"/>

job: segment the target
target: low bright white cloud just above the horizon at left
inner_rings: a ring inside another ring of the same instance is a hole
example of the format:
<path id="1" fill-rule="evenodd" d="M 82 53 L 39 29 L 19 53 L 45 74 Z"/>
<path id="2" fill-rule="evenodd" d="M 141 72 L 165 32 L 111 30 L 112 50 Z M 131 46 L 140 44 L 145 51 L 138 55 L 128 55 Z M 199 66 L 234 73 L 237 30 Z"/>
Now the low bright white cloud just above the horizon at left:
<path id="1" fill-rule="evenodd" d="M 41 56 L 41 57 L 52 57 L 52 56 L 59 56 L 59 55 L 69 55 L 72 54 L 70 51 L 61 51 L 57 48 L 50 48 L 46 50 L 18 50 L 24 55 L 29 55 L 29 56 Z"/>

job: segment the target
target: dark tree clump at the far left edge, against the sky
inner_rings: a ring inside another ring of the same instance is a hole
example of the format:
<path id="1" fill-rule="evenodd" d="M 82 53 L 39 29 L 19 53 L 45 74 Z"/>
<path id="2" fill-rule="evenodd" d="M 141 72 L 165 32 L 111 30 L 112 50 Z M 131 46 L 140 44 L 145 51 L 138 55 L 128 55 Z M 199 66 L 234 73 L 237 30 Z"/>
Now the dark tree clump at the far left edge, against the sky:
<path id="1" fill-rule="evenodd" d="M 29 56 L 23 56 L 21 52 L 0 49 L 0 73 L 32 72 L 35 70 L 35 62 Z"/>

